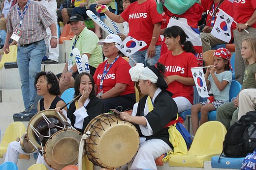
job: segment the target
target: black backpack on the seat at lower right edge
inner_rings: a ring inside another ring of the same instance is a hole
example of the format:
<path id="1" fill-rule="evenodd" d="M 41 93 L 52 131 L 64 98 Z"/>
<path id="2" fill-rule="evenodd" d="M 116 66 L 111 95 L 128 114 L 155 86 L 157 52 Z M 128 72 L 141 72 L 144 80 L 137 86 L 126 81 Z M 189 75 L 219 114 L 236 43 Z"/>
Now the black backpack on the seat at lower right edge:
<path id="1" fill-rule="evenodd" d="M 229 127 L 223 142 L 227 157 L 245 157 L 256 148 L 256 111 L 247 112 Z"/>

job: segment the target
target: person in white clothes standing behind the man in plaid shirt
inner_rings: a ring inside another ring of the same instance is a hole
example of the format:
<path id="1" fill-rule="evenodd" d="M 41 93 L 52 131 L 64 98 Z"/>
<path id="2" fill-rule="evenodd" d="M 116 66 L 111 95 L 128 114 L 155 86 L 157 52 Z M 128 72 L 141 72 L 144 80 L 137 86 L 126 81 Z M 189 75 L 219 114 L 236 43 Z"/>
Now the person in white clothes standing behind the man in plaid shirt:
<path id="1" fill-rule="evenodd" d="M 57 28 L 57 2 L 56 0 L 38 0 L 38 2 L 45 6 L 48 12 L 51 14 L 51 17 L 56 24 Z M 56 29 L 56 35 L 52 36 L 50 28 L 46 28 L 46 37 L 44 38 L 45 44 L 46 44 L 46 57 L 48 57 L 47 60 L 42 61 L 41 64 L 57 64 L 59 63 L 59 43 L 57 44 L 56 48 L 51 48 L 51 37 L 56 38 L 59 42 L 59 35 L 58 35 L 58 29 Z"/>

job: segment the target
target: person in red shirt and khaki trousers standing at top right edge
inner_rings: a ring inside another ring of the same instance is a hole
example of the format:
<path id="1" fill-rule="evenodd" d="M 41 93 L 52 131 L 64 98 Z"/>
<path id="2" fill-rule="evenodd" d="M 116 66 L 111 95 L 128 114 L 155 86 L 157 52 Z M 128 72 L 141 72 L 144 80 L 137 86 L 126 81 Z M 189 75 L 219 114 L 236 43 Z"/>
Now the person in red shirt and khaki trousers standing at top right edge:
<path id="1" fill-rule="evenodd" d="M 242 84 L 246 65 L 241 55 L 241 44 L 242 40 L 246 37 L 256 37 L 256 0 L 234 0 L 233 18 L 238 23 L 233 29 L 235 41 L 235 78 Z M 246 29 L 249 33 L 243 29 Z"/>

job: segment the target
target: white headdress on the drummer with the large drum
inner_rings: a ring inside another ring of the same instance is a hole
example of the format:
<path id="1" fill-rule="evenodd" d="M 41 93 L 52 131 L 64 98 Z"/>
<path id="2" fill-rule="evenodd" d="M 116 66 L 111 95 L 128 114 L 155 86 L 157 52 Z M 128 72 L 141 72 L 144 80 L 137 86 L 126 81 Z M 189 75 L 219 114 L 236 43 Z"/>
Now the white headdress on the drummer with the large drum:
<path id="1" fill-rule="evenodd" d="M 150 80 L 152 83 L 158 82 L 158 76 L 148 67 L 144 68 L 142 63 L 137 63 L 136 66 L 130 68 L 130 77 L 132 81 Z"/>

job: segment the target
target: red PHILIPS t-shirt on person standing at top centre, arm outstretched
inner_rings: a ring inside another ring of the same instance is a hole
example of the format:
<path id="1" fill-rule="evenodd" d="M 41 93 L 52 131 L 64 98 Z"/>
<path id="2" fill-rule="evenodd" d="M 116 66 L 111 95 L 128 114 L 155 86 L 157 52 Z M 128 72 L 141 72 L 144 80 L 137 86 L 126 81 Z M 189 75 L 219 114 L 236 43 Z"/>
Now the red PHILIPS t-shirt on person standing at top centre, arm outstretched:
<path id="1" fill-rule="evenodd" d="M 140 49 L 140 51 L 148 49 L 154 29 L 154 24 L 162 22 L 161 14 L 157 11 L 157 4 L 154 0 L 146 0 L 138 4 L 138 2 L 131 3 L 121 17 L 129 24 L 128 36 L 136 40 L 145 41 L 147 46 Z M 158 38 L 156 45 L 161 45 L 161 38 Z"/>

